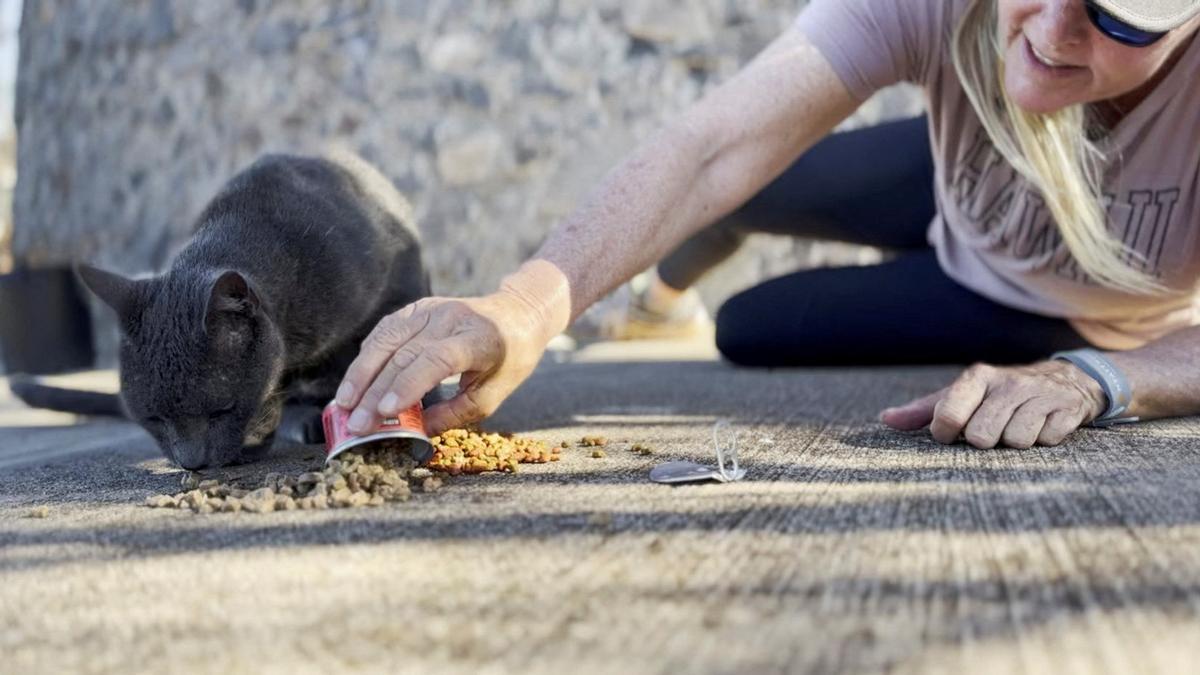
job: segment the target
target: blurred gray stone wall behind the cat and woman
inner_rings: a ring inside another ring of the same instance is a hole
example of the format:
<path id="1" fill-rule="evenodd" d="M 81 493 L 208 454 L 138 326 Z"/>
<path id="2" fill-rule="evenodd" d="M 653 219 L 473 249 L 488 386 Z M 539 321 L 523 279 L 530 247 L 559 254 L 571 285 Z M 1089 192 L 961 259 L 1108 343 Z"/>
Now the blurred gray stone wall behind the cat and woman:
<path id="1" fill-rule="evenodd" d="M 235 171 L 337 141 L 413 201 L 436 291 L 482 292 L 803 5 L 26 0 L 14 252 L 161 269 Z M 916 110 L 912 92 L 890 91 L 848 124 Z M 859 256 L 763 239 L 706 298 Z M 101 347 L 110 356 L 109 339 Z"/>

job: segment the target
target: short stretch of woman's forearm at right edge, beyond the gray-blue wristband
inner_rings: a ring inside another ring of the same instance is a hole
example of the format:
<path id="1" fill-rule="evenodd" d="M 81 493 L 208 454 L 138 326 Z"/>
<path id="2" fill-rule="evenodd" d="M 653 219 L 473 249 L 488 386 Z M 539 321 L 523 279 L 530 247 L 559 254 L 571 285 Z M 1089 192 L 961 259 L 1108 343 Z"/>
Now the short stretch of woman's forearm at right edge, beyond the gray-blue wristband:
<path id="1" fill-rule="evenodd" d="M 1126 414 L 1141 419 L 1200 414 L 1200 327 L 1105 356 L 1124 371 L 1133 388 Z"/>

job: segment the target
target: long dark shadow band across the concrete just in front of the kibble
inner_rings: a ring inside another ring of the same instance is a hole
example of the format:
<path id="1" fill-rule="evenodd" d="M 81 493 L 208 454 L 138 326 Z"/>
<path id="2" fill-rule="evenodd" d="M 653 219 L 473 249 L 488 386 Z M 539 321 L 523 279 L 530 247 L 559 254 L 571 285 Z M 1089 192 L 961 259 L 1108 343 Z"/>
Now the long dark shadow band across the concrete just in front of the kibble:
<path id="1" fill-rule="evenodd" d="M 512 489 L 518 489 L 512 486 Z M 662 486 L 683 497 L 688 488 Z M 744 507 L 706 507 L 704 495 L 692 492 L 686 510 L 544 509 L 514 515 L 455 516 L 444 509 L 422 510 L 420 497 L 391 514 L 376 510 L 325 512 L 322 520 L 293 514 L 254 516 L 162 512 L 162 525 L 100 525 L 56 530 L 0 528 L 0 546 L 103 545 L 120 557 L 173 555 L 227 549 L 337 545 L 347 543 L 478 540 L 497 538 L 570 537 L 578 534 L 667 532 L 763 532 L 810 536 L 851 532 L 1045 532 L 1063 528 L 1170 527 L 1200 522 L 1200 501 L 1177 500 L 1146 508 L 1145 490 L 1097 490 L 1091 485 L 1038 489 L 974 489 L 946 494 L 886 497 L 829 496 L 817 503 L 794 503 L 794 495 L 743 495 Z M 445 495 L 474 502 L 468 494 Z M 493 497 L 494 498 L 494 497 Z M 712 498 L 712 492 L 709 497 Z M 444 506 L 444 504 L 443 504 Z M 451 504 L 452 506 L 452 504 Z M 407 509 L 407 510 L 403 510 Z M 598 521 L 598 514 L 600 516 Z M 256 520 L 263 518 L 269 522 Z M 600 522 L 598 525 L 598 522 Z M 89 557 L 92 557 L 92 554 Z M 101 554 L 106 555 L 106 554 Z M 0 561 L 26 568 L 71 560 L 48 554 L 20 561 Z"/>

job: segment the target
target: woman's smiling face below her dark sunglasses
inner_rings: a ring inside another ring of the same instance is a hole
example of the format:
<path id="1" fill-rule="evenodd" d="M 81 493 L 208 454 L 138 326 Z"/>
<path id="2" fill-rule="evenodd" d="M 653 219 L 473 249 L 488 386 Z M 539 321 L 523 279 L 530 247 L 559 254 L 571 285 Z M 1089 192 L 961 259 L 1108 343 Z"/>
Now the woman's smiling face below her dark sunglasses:
<path id="1" fill-rule="evenodd" d="M 1193 19 L 1150 47 L 1136 48 L 1097 30 L 1084 0 L 997 1 L 1004 88 L 1031 113 L 1152 88 L 1154 76 L 1200 25 Z"/>

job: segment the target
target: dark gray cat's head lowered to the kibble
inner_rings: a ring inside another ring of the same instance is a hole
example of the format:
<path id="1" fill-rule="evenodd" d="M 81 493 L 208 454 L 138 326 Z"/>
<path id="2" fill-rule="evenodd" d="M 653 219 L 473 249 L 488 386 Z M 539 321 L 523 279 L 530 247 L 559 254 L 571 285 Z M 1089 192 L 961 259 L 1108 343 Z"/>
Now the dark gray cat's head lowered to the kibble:
<path id="1" fill-rule="evenodd" d="M 79 276 L 120 321 L 121 398 L 184 468 L 235 462 L 270 443 L 282 413 L 283 341 L 236 271 Z"/>

